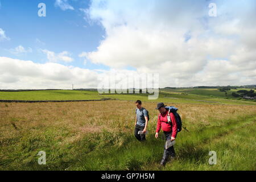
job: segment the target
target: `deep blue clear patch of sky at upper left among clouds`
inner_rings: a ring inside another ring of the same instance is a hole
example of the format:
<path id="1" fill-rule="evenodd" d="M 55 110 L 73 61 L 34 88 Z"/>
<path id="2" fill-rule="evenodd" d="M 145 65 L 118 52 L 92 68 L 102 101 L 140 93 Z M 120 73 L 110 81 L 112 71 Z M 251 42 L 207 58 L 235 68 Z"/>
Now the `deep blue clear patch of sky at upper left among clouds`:
<path id="1" fill-rule="evenodd" d="M 46 4 L 46 17 L 38 16 L 38 4 Z M 75 61 L 68 63 L 80 68 L 104 68 L 84 61 L 81 52 L 95 51 L 105 35 L 104 28 L 98 23 L 88 23 L 79 9 L 88 9 L 89 1 L 72 1 L 74 10 L 61 10 L 55 1 L 2 0 L 0 10 L 1 28 L 7 32 L 10 41 L 1 43 L 0 54 L 7 57 L 19 57 L 33 60 L 35 63 L 47 61 L 40 49 L 53 52 L 68 51 Z M 40 43 L 41 42 L 41 43 Z M 17 46 L 32 48 L 31 53 L 14 56 L 9 49 Z"/>

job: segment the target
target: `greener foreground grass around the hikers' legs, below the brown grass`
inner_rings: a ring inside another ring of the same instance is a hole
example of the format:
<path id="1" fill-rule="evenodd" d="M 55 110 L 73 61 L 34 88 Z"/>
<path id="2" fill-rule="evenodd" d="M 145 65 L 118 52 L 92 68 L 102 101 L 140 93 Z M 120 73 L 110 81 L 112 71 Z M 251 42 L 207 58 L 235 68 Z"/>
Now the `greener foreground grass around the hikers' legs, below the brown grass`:
<path id="1" fill-rule="evenodd" d="M 160 167 L 164 140 L 154 138 L 150 123 L 147 141 L 139 143 L 132 133 L 86 134 L 72 144 L 61 144 L 56 136 L 72 137 L 62 130 L 31 129 L 2 144 L 0 169 L 19 170 L 255 170 L 255 115 L 218 121 L 178 134 L 177 159 Z M 38 151 L 46 151 L 47 165 L 38 165 Z M 217 164 L 209 165 L 209 151 L 217 152 Z"/>

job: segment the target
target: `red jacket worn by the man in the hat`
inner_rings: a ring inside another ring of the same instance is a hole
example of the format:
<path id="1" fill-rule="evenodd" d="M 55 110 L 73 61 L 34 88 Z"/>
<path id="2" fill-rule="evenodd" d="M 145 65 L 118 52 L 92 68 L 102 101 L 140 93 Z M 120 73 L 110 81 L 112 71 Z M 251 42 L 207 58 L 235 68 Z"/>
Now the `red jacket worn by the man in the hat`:
<path id="1" fill-rule="evenodd" d="M 159 117 L 160 115 L 160 117 Z M 176 137 L 176 134 L 177 134 L 177 122 L 176 122 L 176 119 L 175 119 L 175 116 L 173 113 L 170 113 L 170 117 L 171 117 L 171 123 L 167 123 L 167 115 L 168 115 L 168 110 L 166 110 L 165 113 L 163 114 L 160 114 L 159 113 L 158 115 L 158 124 L 156 126 L 156 133 L 159 133 L 161 127 L 162 127 L 162 130 L 163 131 L 166 131 L 166 132 L 170 132 L 172 131 L 172 137 Z"/>

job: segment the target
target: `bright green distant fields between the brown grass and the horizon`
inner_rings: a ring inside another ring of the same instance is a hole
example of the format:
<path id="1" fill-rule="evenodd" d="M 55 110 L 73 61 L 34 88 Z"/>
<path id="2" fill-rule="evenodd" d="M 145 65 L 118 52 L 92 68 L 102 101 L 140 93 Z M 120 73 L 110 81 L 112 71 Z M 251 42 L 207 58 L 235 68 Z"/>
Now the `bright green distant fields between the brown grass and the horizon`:
<path id="1" fill-rule="evenodd" d="M 230 93 L 231 94 L 231 93 Z M 255 101 L 225 97 L 217 89 L 163 89 L 157 100 L 148 100 L 147 94 L 98 94 L 97 91 L 36 90 L 25 92 L 0 92 L 0 100 L 98 100 L 113 98 L 127 101 L 151 101 L 191 104 L 256 105 Z"/>

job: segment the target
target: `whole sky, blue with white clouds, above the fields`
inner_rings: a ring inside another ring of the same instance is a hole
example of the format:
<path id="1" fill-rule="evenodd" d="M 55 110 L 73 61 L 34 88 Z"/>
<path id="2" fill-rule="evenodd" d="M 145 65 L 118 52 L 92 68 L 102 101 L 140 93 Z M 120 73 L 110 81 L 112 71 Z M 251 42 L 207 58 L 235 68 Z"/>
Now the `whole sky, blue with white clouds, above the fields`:
<path id="1" fill-rule="evenodd" d="M 0 89 L 256 84 L 255 17 L 254 0 L 0 0 Z"/>

